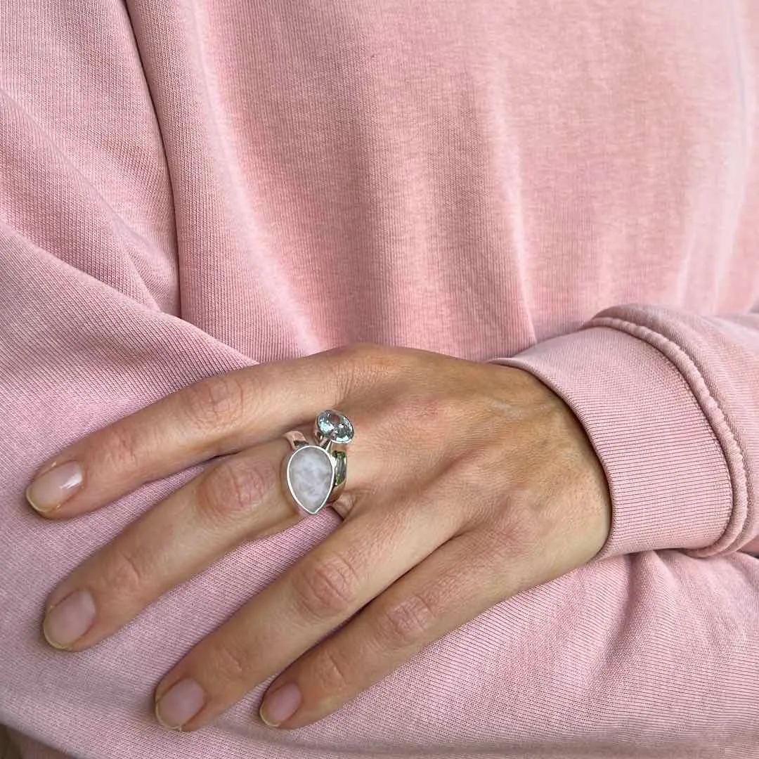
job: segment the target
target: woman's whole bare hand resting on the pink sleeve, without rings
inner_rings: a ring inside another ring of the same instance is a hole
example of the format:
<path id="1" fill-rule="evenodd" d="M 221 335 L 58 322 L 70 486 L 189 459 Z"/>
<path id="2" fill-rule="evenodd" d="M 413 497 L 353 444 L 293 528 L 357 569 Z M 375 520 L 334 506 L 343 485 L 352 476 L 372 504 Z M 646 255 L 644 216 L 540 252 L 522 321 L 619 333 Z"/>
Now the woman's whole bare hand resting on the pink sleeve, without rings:
<path id="1" fill-rule="evenodd" d="M 239 543 L 298 521 L 282 490 L 282 434 L 310 430 L 326 408 L 355 427 L 333 504 L 344 524 L 168 672 L 156 690 L 166 726 L 206 725 L 282 669 L 263 719 L 312 723 L 606 540 L 600 463 L 534 376 L 408 348 L 339 348 L 195 383 L 40 470 L 27 497 L 58 519 L 225 456 L 74 570 L 49 597 L 48 641 L 93 646 Z"/>

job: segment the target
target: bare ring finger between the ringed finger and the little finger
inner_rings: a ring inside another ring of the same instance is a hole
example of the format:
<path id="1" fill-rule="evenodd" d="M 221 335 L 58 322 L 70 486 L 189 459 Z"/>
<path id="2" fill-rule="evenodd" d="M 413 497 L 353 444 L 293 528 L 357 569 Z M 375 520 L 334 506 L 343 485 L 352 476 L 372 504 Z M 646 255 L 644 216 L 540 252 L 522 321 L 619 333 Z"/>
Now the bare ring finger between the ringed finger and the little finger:
<path id="1" fill-rule="evenodd" d="M 354 512 L 165 676 L 159 720 L 203 726 L 349 619 L 461 528 L 463 512 L 433 508 Z"/>

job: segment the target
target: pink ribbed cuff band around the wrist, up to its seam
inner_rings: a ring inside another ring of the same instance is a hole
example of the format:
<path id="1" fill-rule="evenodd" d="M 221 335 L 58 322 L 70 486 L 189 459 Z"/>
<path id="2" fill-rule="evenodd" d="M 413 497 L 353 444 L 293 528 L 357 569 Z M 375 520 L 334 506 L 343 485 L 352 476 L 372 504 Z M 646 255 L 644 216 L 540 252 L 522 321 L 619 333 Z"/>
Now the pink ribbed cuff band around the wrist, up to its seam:
<path id="1" fill-rule="evenodd" d="M 726 459 L 685 379 L 657 348 L 591 327 L 492 363 L 537 376 L 583 425 L 613 508 L 597 558 L 704 549 L 720 539 L 732 511 Z"/>

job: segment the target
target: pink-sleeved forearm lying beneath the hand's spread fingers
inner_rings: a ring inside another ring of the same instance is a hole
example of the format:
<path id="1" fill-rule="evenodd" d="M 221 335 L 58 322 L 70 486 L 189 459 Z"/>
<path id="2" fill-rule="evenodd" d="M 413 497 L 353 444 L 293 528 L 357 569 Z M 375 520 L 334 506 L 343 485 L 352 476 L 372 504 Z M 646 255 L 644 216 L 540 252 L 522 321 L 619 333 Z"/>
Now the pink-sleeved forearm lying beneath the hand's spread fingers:
<path id="1" fill-rule="evenodd" d="M 150 402 L 250 362 L 23 241 L 6 237 L 3 245 L 6 282 L 20 288 L 24 307 L 16 300 L 2 313 L 0 398 L 7 413 L 0 468 L 8 487 L 0 561 L 6 607 L 17 614 L 0 619 L 6 641 L 0 720 L 72 754 L 86 741 L 103 754 L 140 745 L 186 756 L 186 745 L 168 740 L 172 734 L 153 718 L 153 689 L 339 520 L 325 512 L 238 546 L 92 650 L 47 647 L 39 622 L 55 587 L 200 472 L 192 468 L 90 515 L 49 522 L 24 505 L 36 467 Z M 61 288 L 61 281 L 69 286 Z M 49 297 L 54 286 L 65 292 L 62 301 Z M 117 320 L 119 329 L 103 332 Z M 30 330 L 38 330 L 34 340 Z M 431 752 L 505 753 L 528 741 L 587 756 L 632 736 L 665 755 L 751 745 L 757 739 L 757 587 L 757 562 L 744 553 L 704 560 L 644 551 L 591 563 L 496 603 L 425 647 L 334 720 L 300 733 L 297 751 L 323 757 L 329 746 L 349 751 L 368 742 L 396 754 L 417 744 Z M 199 755 L 242 756 L 274 740 L 251 718 L 266 685 L 250 691 L 219 727 L 197 733 Z M 114 723 L 123 726 L 117 735 L 109 729 Z"/>

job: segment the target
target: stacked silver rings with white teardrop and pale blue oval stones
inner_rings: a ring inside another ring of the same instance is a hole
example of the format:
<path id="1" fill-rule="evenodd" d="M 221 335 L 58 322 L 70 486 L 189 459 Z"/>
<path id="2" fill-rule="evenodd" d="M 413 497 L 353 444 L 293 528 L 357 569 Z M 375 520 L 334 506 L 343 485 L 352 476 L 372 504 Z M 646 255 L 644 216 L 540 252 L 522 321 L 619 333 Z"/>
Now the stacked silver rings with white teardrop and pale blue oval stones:
<path id="1" fill-rule="evenodd" d="M 285 493 L 304 514 L 318 514 L 337 500 L 348 477 L 345 446 L 353 439 L 353 424 L 339 411 L 328 408 L 313 423 L 313 442 L 303 433 L 285 433 L 291 452 L 282 462 Z"/>

